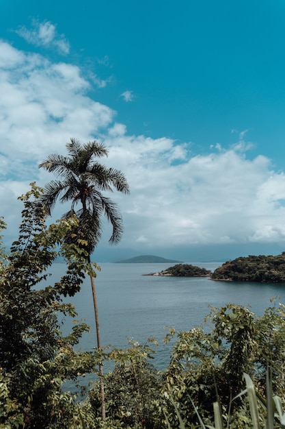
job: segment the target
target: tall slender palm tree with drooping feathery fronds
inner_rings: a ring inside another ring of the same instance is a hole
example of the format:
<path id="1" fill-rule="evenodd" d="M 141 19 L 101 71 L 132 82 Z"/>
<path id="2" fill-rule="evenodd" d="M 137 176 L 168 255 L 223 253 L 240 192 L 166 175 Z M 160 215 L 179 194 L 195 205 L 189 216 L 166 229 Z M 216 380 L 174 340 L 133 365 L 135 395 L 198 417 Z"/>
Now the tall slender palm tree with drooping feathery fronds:
<path id="1" fill-rule="evenodd" d="M 118 206 L 108 197 L 104 191 L 117 191 L 128 194 L 129 188 L 126 178 L 121 171 L 107 168 L 99 164 L 96 158 L 108 156 L 108 150 L 102 143 L 95 140 L 82 145 L 76 139 L 70 139 L 66 145 L 69 156 L 58 154 L 49 155 L 39 164 L 39 168 L 55 173 L 62 180 L 52 180 L 46 184 L 42 203 L 51 212 L 57 200 L 61 203 L 71 201 L 70 210 L 63 218 L 76 214 L 79 219 L 77 236 L 83 236 L 87 242 L 87 263 L 91 265 L 90 256 L 94 251 L 102 233 L 102 217 L 105 215 L 113 227 L 109 238 L 110 243 L 118 243 L 122 236 L 122 217 Z M 78 210 L 75 210 L 79 204 Z M 72 241 L 72 234 L 66 237 Z M 85 247 L 86 249 L 86 247 Z M 96 322 L 96 338 L 98 350 L 101 349 L 100 329 L 98 320 L 98 307 L 94 277 L 90 269 L 90 280 L 94 302 L 94 314 Z M 101 410 L 105 419 L 105 396 L 103 384 L 103 364 L 99 365 L 101 384 Z"/>

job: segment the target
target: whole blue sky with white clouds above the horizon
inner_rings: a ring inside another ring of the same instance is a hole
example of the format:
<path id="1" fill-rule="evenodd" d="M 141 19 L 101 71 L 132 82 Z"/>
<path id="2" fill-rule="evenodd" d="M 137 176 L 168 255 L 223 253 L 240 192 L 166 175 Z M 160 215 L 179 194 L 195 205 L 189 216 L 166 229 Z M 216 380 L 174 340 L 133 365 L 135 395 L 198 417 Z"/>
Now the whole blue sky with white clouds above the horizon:
<path id="1" fill-rule="evenodd" d="M 224 261 L 285 251 L 283 0 L 20 0 L 0 13 L 0 215 L 55 177 L 38 164 L 98 140 L 130 195 L 97 262 Z M 58 205 L 53 220 L 65 209 Z"/>

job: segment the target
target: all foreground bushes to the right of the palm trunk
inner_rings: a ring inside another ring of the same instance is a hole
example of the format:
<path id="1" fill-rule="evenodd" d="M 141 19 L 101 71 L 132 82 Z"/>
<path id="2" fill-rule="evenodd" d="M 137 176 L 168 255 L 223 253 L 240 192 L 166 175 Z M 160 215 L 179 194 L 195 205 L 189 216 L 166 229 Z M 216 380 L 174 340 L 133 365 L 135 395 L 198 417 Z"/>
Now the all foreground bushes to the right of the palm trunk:
<path id="1" fill-rule="evenodd" d="M 284 317 L 282 305 L 268 308 L 262 317 L 234 304 L 213 308 L 206 326 L 178 332 L 172 359 L 156 382 L 142 346 L 131 347 L 106 379 L 109 418 L 122 428 L 200 428 L 213 426 L 219 412 L 225 428 L 248 428 L 247 373 L 262 404 L 258 419 L 265 428 L 268 368 L 271 391 L 284 406 Z M 165 341 L 174 335 L 171 329 Z M 136 360 L 131 358 L 135 352 Z M 100 412 L 98 389 L 97 384 L 87 400 L 95 415 Z M 144 410 L 150 411 L 147 418 Z"/>

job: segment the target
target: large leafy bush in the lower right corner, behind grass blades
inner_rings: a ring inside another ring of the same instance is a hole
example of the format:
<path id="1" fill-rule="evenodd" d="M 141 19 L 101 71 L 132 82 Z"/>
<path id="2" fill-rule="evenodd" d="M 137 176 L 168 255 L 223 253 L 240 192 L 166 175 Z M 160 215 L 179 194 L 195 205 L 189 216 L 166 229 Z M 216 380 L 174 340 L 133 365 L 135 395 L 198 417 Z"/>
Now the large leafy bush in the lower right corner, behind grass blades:
<path id="1" fill-rule="evenodd" d="M 264 397 L 268 365 L 273 391 L 284 401 L 284 315 L 282 305 L 268 308 L 257 317 L 247 308 L 228 304 L 211 311 L 206 330 L 200 327 L 179 332 L 172 360 L 163 374 L 165 400 L 161 407 L 171 427 L 178 428 L 180 423 L 167 398 L 177 405 L 186 428 L 200 424 L 195 407 L 204 424 L 211 424 L 215 402 L 223 419 L 230 410 L 230 428 L 248 427 L 249 410 L 239 396 L 244 387 L 243 374 L 252 378 L 258 395 Z"/>

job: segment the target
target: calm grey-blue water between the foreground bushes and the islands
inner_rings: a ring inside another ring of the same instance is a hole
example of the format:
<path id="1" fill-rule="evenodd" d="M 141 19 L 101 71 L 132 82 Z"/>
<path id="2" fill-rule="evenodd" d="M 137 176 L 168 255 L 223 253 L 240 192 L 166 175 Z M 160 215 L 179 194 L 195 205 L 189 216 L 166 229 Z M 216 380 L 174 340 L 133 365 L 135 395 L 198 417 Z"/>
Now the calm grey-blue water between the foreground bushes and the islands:
<path id="1" fill-rule="evenodd" d="M 189 262 L 214 271 L 221 263 Z M 171 345 L 164 345 L 163 336 L 171 326 L 176 331 L 190 330 L 203 323 L 209 306 L 240 304 L 262 315 L 272 305 L 271 297 L 285 303 L 285 285 L 215 282 L 208 278 L 174 278 L 144 275 L 162 271 L 171 264 L 113 264 L 100 265 L 96 278 L 96 294 L 100 321 L 100 335 L 103 345 L 127 347 L 128 337 L 141 344 L 149 336 L 159 341 L 154 365 L 162 368 L 169 362 Z M 64 273 L 64 265 L 53 265 L 53 278 Z M 73 298 L 79 313 L 90 325 L 90 332 L 84 334 L 80 347 L 92 350 L 96 344 L 94 308 L 90 281 L 85 280 L 81 291 Z M 64 330 L 69 330 L 66 321 Z M 155 346 L 154 346 L 155 347 Z"/>

